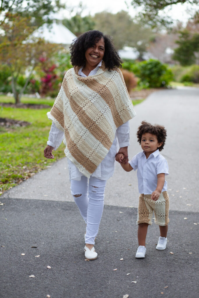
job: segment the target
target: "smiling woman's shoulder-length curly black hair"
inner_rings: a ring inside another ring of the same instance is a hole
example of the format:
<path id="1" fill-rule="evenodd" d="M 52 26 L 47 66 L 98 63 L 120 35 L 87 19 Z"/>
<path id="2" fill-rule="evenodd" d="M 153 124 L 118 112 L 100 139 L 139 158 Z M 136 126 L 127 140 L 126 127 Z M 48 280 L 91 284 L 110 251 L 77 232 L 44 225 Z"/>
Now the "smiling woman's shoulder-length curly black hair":
<path id="1" fill-rule="evenodd" d="M 122 60 L 115 49 L 112 38 L 109 35 L 104 35 L 98 30 L 90 30 L 79 35 L 72 41 L 70 46 L 70 60 L 73 66 L 85 66 L 86 58 L 85 52 L 91 46 L 94 46 L 101 38 L 104 39 L 105 52 L 103 61 L 105 67 L 113 69 L 114 67 L 121 67 Z"/>

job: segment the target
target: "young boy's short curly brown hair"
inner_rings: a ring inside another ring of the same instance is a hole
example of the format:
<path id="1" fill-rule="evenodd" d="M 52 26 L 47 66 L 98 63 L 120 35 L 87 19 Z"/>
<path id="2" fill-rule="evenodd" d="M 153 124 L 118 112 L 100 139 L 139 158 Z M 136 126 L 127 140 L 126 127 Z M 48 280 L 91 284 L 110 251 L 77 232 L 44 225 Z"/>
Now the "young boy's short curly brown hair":
<path id="1" fill-rule="evenodd" d="M 162 145 L 158 148 L 159 151 L 162 151 L 166 140 L 166 129 L 164 128 L 164 126 L 161 126 L 158 124 L 152 125 L 146 121 L 142 121 L 137 131 L 138 142 L 140 143 L 140 145 L 141 145 L 142 135 L 147 132 L 149 134 L 155 134 L 155 136 L 157 136 L 158 143 L 162 142 Z"/>

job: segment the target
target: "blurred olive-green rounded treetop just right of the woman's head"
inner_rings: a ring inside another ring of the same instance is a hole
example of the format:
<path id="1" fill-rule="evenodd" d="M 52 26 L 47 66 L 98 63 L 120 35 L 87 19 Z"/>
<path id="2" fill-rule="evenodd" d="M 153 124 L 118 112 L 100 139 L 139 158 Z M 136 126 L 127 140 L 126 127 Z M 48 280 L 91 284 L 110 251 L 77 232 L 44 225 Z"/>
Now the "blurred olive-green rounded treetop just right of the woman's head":
<path id="1" fill-rule="evenodd" d="M 95 29 L 113 37 L 115 47 L 135 47 L 140 57 L 146 51 L 149 39 L 154 35 L 152 30 L 140 22 L 135 23 L 124 10 L 113 14 L 107 12 L 96 13 L 94 16 Z"/>

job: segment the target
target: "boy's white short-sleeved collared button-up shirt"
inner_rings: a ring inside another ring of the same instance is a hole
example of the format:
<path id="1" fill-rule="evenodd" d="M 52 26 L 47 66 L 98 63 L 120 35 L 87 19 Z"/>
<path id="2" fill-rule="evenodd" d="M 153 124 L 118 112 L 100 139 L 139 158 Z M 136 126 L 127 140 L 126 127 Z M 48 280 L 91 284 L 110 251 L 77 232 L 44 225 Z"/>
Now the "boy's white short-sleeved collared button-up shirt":
<path id="1" fill-rule="evenodd" d="M 155 152 L 151 153 L 146 159 L 145 152 L 139 152 L 129 161 L 133 170 L 137 171 L 138 177 L 138 189 L 139 193 L 144 193 L 145 195 L 151 195 L 152 192 L 157 187 L 157 175 L 165 173 L 169 175 L 169 167 L 166 159 L 160 154 L 157 149 Z M 162 191 L 167 190 L 167 182 L 165 180 Z"/>

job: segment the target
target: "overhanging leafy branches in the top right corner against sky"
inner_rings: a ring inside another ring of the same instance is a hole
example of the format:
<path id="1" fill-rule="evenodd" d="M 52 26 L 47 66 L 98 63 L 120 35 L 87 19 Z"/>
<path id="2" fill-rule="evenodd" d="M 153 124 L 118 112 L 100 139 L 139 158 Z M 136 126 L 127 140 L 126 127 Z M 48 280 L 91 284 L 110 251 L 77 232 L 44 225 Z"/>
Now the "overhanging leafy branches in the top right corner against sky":
<path id="1" fill-rule="evenodd" d="M 132 0 L 131 5 L 141 10 L 138 16 L 145 24 L 156 27 L 157 25 L 169 26 L 172 24 L 171 18 L 168 18 L 167 15 L 160 15 L 159 12 L 178 3 L 198 4 L 199 0 Z"/>

